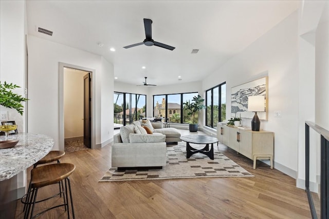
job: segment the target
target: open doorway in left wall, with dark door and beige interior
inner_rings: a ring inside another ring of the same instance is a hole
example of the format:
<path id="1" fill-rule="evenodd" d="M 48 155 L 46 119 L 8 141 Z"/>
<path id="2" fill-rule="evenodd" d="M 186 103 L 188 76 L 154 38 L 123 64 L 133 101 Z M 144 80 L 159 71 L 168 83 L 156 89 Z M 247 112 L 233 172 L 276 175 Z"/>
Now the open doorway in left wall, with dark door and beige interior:
<path id="1" fill-rule="evenodd" d="M 95 71 L 60 63 L 60 150 L 95 148 L 92 75 Z"/>

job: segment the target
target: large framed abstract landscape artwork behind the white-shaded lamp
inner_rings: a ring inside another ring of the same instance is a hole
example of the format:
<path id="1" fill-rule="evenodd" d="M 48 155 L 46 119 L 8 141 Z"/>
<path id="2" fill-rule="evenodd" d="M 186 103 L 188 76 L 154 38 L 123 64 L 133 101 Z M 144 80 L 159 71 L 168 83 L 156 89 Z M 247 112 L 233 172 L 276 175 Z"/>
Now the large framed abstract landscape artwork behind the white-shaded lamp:
<path id="1" fill-rule="evenodd" d="M 268 76 L 231 88 L 231 117 L 252 118 L 248 111 L 248 96 L 265 96 L 265 112 L 257 112 L 260 120 L 268 116 Z"/>

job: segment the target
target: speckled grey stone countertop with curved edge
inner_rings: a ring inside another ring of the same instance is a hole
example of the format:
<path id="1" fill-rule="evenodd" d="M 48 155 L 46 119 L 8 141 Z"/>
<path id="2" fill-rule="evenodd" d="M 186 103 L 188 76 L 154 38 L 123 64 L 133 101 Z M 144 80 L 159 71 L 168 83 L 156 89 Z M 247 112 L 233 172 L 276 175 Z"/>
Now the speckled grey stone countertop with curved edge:
<path id="1" fill-rule="evenodd" d="M 1 136 L 0 141 L 4 140 L 5 136 Z M 19 140 L 19 143 L 13 148 L 0 149 L 0 181 L 8 180 L 38 162 L 54 144 L 51 137 L 33 133 L 9 135 L 9 140 Z"/>

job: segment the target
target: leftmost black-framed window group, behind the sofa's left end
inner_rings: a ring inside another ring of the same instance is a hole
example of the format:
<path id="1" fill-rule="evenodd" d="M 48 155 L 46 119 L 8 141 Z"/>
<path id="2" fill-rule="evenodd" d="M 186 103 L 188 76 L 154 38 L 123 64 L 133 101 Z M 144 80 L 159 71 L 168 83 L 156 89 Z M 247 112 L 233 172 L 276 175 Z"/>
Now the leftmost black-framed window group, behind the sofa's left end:
<path id="1" fill-rule="evenodd" d="M 146 95 L 114 92 L 114 128 L 146 116 Z"/>

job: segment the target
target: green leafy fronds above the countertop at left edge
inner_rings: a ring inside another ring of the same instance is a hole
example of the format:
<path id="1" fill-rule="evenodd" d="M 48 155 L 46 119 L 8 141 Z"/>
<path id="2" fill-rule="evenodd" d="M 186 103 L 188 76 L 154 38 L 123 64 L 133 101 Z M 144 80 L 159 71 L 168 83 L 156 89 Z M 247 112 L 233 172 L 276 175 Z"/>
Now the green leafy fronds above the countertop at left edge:
<path id="1" fill-rule="evenodd" d="M 0 82 L 0 105 L 15 109 L 17 112 L 23 115 L 24 107 L 22 102 L 28 101 L 28 99 L 19 94 L 13 93 L 12 90 L 16 88 L 20 88 L 20 86 L 12 83 L 7 84 L 6 82 L 2 84 Z"/>

